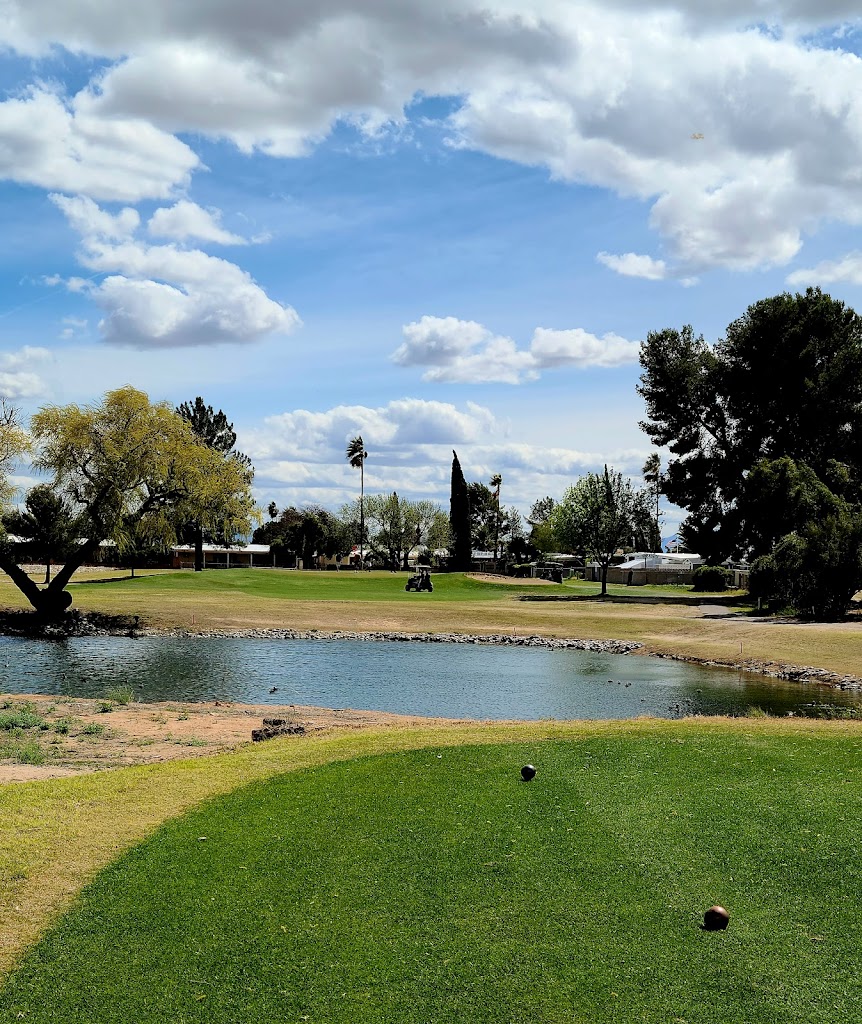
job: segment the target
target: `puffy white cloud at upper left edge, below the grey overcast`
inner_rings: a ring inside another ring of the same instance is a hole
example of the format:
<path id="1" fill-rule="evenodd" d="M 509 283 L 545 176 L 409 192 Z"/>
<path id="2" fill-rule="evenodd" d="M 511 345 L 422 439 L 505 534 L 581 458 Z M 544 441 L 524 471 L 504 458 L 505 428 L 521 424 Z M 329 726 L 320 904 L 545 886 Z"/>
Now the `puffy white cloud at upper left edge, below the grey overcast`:
<path id="1" fill-rule="evenodd" d="M 198 157 L 143 119 L 103 117 L 85 94 L 71 103 L 34 88 L 0 102 L 0 178 L 97 199 L 165 198 Z"/>

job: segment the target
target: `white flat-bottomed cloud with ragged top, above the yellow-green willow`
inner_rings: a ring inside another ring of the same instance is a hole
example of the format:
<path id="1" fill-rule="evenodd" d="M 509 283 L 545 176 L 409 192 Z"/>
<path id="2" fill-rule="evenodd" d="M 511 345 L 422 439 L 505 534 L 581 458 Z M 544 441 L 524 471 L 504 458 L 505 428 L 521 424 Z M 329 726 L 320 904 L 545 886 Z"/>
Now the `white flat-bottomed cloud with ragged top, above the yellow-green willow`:
<path id="1" fill-rule="evenodd" d="M 88 199 L 51 198 L 83 234 L 80 262 L 94 276 L 106 274 L 84 288 L 104 313 L 105 341 L 137 348 L 247 343 L 299 325 L 291 306 L 270 299 L 234 263 L 123 234 L 121 227 L 137 225 L 136 214 L 126 216 L 134 211 L 111 216 Z"/>

